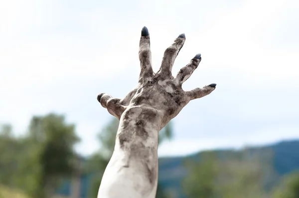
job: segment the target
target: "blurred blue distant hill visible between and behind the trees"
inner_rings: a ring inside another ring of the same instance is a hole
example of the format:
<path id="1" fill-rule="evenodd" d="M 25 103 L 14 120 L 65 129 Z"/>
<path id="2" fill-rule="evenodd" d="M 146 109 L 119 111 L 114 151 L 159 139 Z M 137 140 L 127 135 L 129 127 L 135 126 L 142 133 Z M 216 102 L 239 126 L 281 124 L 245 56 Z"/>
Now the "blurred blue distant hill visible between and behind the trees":
<path id="1" fill-rule="evenodd" d="M 263 147 L 250 147 L 252 150 L 272 149 L 273 167 L 275 171 L 283 176 L 292 171 L 299 170 L 299 140 L 282 141 Z M 225 157 L 227 152 L 235 150 L 216 150 L 219 156 Z M 186 198 L 182 194 L 181 181 L 186 175 L 183 167 L 184 160 L 200 155 L 201 152 L 186 157 L 167 157 L 159 159 L 159 184 L 165 191 L 172 192 L 177 198 Z M 91 175 L 81 177 L 81 198 L 87 198 L 87 190 Z M 70 194 L 70 183 L 65 182 L 57 192 L 60 195 Z"/>

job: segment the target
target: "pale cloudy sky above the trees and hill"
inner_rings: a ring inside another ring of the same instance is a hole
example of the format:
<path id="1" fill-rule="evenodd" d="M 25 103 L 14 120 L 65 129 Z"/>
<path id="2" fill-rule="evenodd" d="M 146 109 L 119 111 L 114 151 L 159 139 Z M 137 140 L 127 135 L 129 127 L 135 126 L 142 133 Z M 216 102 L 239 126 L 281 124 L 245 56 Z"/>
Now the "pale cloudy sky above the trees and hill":
<path id="1" fill-rule="evenodd" d="M 183 89 L 217 83 L 173 119 L 160 156 L 298 139 L 298 10 L 298 0 L 2 0 L 0 123 L 22 135 L 33 115 L 63 114 L 76 150 L 92 154 L 112 119 L 96 97 L 135 88 L 147 26 L 154 71 L 185 33 L 172 74 L 201 53 Z"/>

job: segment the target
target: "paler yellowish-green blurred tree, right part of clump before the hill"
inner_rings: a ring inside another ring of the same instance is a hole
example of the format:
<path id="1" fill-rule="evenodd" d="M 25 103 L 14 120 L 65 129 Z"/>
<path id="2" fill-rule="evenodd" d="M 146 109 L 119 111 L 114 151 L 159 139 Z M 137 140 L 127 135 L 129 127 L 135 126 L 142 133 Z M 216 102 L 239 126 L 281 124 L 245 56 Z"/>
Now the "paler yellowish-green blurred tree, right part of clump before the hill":
<path id="1" fill-rule="evenodd" d="M 244 149 L 221 162 L 218 189 L 223 198 L 265 198 L 265 178 L 271 170 L 268 152 Z"/>

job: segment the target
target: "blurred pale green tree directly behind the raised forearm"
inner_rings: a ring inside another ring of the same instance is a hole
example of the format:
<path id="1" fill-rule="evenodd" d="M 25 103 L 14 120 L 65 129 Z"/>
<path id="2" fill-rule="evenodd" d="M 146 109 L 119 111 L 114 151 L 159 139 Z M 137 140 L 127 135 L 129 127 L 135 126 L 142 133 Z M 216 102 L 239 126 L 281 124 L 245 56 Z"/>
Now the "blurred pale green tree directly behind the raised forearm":
<path id="1" fill-rule="evenodd" d="M 89 193 L 88 193 L 89 198 L 97 197 L 102 176 L 104 174 L 106 166 L 108 165 L 114 150 L 118 126 L 119 126 L 119 120 L 117 118 L 113 118 L 111 122 L 108 123 L 107 126 L 104 127 L 104 129 L 98 135 L 98 139 L 100 142 L 99 152 L 93 154 L 86 165 L 86 170 L 88 170 L 87 172 L 93 175 L 93 178 L 91 179 L 91 185 L 89 187 Z M 159 132 L 159 136 L 158 136 L 159 144 L 166 139 L 170 139 L 171 137 L 172 137 L 172 123 L 169 122 Z M 156 198 L 165 198 L 165 195 L 159 186 L 158 186 L 158 192 Z"/>

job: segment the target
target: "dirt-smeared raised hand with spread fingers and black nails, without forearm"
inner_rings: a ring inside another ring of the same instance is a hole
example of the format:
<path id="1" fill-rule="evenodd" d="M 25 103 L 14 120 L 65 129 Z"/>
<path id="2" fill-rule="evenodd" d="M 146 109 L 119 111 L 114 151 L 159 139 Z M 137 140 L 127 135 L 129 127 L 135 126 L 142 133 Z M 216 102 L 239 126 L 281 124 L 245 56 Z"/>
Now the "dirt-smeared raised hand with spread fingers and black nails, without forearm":
<path id="1" fill-rule="evenodd" d="M 201 61 L 201 54 L 196 54 L 182 67 L 176 77 L 171 75 L 174 60 L 185 42 L 185 34 L 180 34 L 168 47 L 162 58 L 160 69 L 154 73 L 151 65 L 149 30 L 143 27 L 139 45 L 141 72 L 137 87 L 123 99 L 113 98 L 101 93 L 98 101 L 108 112 L 118 119 L 128 108 L 150 109 L 151 114 L 160 116 L 161 127 L 174 118 L 190 100 L 210 94 L 216 84 L 210 84 L 191 91 L 184 91 L 182 84 L 191 76 Z"/>

